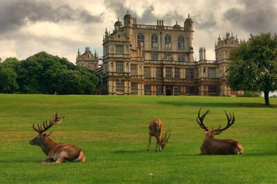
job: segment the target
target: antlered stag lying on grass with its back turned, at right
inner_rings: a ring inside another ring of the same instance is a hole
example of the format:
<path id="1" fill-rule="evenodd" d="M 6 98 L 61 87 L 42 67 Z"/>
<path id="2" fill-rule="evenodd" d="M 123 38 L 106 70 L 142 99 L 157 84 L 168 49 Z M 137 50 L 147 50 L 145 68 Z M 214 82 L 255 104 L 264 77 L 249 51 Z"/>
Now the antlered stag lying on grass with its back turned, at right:
<path id="1" fill-rule="evenodd" d="M 229 115 L 225 112 L 227 116 L 227 125 L 224 128 L 218 127 L 216 130 L 208 130 L 208 127 L 204 125 L 204 118 L 210 112 L 207 110 L 202 116 L 200 116 L 200 108 L 197 116 L 197 123 L 202 129 L 206 131 L 206 137 L 200 148 L 202 154 L 242 154 L 243 148 L 238 141 L 233 139 L 215 139 L 215 135 L 220 134 L 222 131 L 227 130 L 233 123 L 235 123 L 235 115 L 230 113 Z"/>

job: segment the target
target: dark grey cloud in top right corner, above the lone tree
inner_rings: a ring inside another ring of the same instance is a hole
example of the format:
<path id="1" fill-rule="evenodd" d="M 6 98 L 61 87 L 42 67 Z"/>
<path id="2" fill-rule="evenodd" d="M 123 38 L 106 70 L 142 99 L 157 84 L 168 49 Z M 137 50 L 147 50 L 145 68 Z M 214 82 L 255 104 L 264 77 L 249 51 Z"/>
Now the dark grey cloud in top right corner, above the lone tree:
<path id="1" fill-rule="evenodd" d="M 241 8 L 231 8 L 224 13 L 224 19 L 251 33 L 276 32 L 276 1 L 238 1 Z"/>

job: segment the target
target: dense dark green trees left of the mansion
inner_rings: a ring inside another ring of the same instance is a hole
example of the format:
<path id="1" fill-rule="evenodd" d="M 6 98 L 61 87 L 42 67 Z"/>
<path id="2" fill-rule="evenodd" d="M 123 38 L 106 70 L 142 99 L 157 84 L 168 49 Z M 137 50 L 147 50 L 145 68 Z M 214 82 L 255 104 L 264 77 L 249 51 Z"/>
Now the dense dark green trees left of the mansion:
<path id="1" fill-rule="evenodd" d="M 0 63 L 0 93 L 93 94 L 99 82 L 91 70 L 46 52 Z"/>

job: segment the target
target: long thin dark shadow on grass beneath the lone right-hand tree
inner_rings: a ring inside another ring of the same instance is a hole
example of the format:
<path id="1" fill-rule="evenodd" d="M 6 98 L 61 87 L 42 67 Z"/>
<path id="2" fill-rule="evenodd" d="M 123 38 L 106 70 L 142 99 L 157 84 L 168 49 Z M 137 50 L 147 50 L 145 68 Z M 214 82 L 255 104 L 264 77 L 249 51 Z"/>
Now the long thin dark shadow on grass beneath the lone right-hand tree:
<path id="1" fill-rule="evenodd" d="M 277 108 L 277 104 L 271 104 L 269 106 L 264 103 L 227 103 L 227 102 L 219 102 L 219 103 L 208 103 L 208 102 L 184 102 L 184 101 L 159 101 L 161 105 L 175 105 L 175 106 L 193 106 L 193 107 L 215 107 L 215 108 Z"/>

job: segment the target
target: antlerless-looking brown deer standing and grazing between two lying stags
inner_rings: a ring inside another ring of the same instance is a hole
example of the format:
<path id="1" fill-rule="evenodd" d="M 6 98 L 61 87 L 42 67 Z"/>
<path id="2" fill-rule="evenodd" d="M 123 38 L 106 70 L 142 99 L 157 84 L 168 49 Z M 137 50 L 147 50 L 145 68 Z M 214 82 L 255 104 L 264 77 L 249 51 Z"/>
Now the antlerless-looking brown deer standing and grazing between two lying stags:
<path id="1" fill-rule="evenodd" d="M 166 147 L 166 143 L 168 143 L 168 139 L 171 136 L 171 133 L 168 134 L 170 130 L 166 132 L 165 137 L 163 138 L 162 133 L 163 133 L 163 122 L 161 119 L 154 119 L 149 123 L 149 144 L 148 144 L 148 151 L 151 143 L 151 138 L 154 136 L 157 139 L 157 144 L 156 144 L 156 152 L 158 151 L 158 145 L 159 145 L 159 151 L 163 150 L 163 148 Z M 168 134 L 168 136 L 167 136 Z"/>

